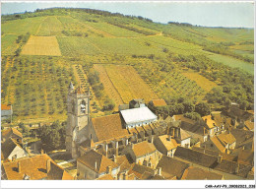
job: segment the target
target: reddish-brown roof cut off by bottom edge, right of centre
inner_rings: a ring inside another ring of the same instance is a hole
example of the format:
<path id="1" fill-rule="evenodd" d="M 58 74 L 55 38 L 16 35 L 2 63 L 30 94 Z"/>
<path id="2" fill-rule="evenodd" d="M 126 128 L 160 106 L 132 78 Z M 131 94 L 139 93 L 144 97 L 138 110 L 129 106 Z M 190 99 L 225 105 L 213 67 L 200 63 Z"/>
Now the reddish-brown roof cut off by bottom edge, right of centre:
<path id="1" fill-rule="evenodd" d="M 184 171 L 181 180 L 222 180 L 223 177 L 222 174 L 190 166 Z"/>

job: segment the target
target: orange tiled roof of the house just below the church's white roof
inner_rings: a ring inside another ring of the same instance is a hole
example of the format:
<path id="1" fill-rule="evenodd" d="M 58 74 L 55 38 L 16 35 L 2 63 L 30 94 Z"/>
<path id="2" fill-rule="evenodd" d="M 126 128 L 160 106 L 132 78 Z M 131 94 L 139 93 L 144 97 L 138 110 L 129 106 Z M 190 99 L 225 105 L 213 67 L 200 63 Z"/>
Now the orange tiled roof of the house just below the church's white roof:
<path id="1" fill-rule="evenodd" d="M 143 157 L 148 154 L 152 154 L 156 151 L 157 151 L 157 149 L 154 146 L 154 144 L 149 143 L 148 141 L 143 141 L 141 143 L 137 143 L 133 147 L 133 152 L 137 158 Z"/>

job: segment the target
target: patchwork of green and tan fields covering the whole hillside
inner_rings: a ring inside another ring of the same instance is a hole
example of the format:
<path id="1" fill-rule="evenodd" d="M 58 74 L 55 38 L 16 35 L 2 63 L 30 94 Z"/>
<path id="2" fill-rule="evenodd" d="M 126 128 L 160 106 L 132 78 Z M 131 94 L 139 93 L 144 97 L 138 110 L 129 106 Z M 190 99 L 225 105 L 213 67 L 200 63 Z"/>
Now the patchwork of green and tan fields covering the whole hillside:
<path id="1" fill-rule="evenodd" d="M 230 43 L 224 45 L 231 52 L 253 58 L 253 30 L 163 26 L 130 20 L 71 12 L 3 22 L 3 102 L 14 104 L 15 113 L 22 118 L 65 117 L 68 82 L 87 80 L 90 70 L 99 73 L 104 95 L 115 103 L 113 110 L 132 98 L 149 101 L 183 95 L 205 100 L 222 82 L 220 78 L 216 83 L 210 81 L 213 77 L 207 74 L 212 72 L 212 63 L 203 67 L 204 58 L 196 62 L 193 56 L 197 55 L 214 60 L 213 64 L 219 62 L 254 74 L 254 65 L 247 60 L 205 51 L 200 43 Z M 30 35 L 29 40 L 19 42 L 24 35 Z M 63 62 L 71 69 L 65 70 Z M 83 74 L 79 72 L 82 67 Z M 199 73 L 207 74 L 203 77 Z M 106 113 L 103 102 L 97 101 L 93 111 Z"/>

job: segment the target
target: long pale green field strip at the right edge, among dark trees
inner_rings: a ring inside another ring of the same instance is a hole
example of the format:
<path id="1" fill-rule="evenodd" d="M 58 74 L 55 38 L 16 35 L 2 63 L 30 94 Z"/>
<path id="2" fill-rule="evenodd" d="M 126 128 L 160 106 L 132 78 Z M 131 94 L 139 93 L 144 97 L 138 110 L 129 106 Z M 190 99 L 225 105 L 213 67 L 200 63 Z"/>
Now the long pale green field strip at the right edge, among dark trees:
<path id="1" fill-rule="evenodd" d="M 213 54 L 210 55 L 209 58 L 232 68 L 240 68 L 249 74 L 254 75 L 254 65 L 248 62 L 244 62 L 229 56 L 224 56 L 222 54 Z"/>

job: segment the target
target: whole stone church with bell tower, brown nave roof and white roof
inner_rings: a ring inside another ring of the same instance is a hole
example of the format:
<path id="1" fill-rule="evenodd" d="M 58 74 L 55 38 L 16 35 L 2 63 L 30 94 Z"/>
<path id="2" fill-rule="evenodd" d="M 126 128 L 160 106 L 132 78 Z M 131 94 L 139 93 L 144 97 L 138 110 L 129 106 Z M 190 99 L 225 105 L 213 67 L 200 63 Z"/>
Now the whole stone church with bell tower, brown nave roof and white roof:
<path id="1" fill-rule="evenodd" d="M 133 99 L 136 100 L 136 99 Z M 137 101 L 140 101 L 139 99 Z M 70 83 L 67 106 L 66 150 L 79 158 L 93 150 L 107 158 L 121 155 L 126 146 L 166 133 L 167 123 L 158 120 L 145 104 L 101 117 L 90 117 L 90 91 Z"/>

